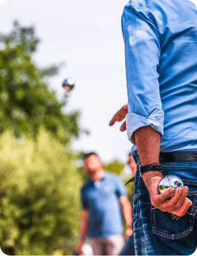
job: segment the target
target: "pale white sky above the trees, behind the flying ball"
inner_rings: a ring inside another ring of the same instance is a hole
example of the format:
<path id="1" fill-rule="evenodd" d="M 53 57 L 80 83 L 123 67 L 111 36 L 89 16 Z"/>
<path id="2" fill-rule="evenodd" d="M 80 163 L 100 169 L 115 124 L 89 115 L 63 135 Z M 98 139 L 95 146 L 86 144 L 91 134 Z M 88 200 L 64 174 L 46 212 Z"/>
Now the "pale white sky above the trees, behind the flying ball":
<path id="1" fill-rule="evenodd" d="M 0 32 L 14 20 L 34 25 L 41 39 L 34 61 L 39 67 L 64 62 L 59 75 L 48 80 L 59 99 L 62 82 L 75 80 L 66 111 L 80 110 L 79 124 L 90 135 L 73 141 L 73 150 L 96 151 L 104 162 L 126 162 L 132 143 L 121 123 L 110 119 L 127 103 L 121 15 L 128 0 L 10 0 L 1 5 Z"/>

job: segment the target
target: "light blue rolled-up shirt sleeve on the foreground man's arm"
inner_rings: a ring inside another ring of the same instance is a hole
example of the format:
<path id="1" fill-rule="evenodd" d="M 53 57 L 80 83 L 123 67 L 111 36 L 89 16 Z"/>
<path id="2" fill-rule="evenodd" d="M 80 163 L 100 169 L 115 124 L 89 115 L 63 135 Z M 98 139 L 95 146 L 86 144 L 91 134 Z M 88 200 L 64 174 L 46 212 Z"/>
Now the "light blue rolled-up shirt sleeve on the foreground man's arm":
<path id="1" fill-rule="evenodd" d="M 127 135 L 136 145 L 134 131 L 139 127 L 151 125 L 163 135 L 164 111 L 157 72 L 160 37 L 151 15 L 130 2 L 122 14 L 122 34 L 128 95 Z"/>

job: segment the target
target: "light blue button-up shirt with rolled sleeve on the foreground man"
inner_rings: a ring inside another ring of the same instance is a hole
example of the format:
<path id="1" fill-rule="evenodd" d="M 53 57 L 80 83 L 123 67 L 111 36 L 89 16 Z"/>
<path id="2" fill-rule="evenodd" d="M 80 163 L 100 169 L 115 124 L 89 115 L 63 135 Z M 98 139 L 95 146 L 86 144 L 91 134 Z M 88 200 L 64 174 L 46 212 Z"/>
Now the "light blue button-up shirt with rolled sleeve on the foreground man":
<path id="1" fill-rule="evenodd" d="M 197 10 L 187 0 L 131 0 L 122 14 L 127 135 L 151 125 L 160 151 L 197 150 Z"/>

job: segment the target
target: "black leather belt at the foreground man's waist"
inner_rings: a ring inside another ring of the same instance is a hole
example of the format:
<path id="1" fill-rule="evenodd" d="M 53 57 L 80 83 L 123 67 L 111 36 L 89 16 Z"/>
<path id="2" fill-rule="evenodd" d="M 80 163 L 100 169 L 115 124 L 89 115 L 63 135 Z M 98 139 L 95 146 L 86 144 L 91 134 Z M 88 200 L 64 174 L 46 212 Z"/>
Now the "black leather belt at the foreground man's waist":
<path id="1" fill-rule="evenodd" d="M 159 163 L 171 162 L 197 162 L 196 151 L 175 151 L 175 152 L 161 152 L 159 154 Z"/>

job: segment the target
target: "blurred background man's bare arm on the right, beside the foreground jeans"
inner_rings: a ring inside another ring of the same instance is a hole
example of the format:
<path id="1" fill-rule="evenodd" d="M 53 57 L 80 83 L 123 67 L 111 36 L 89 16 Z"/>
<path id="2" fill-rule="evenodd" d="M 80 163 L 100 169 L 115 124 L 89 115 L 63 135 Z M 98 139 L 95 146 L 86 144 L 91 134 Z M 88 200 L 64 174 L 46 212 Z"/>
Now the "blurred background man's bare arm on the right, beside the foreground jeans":
<path id="1" fill-rule="evenodd" d="M 119 198 L 120 207 L 122 210 L 123 218 L 127 225 L 127 230 L 125 236 L 129 237 L 133 235 L 133 225 L 132 225 L 132 206 L 129 203 L 127 196 L 121 196 Z"/>

